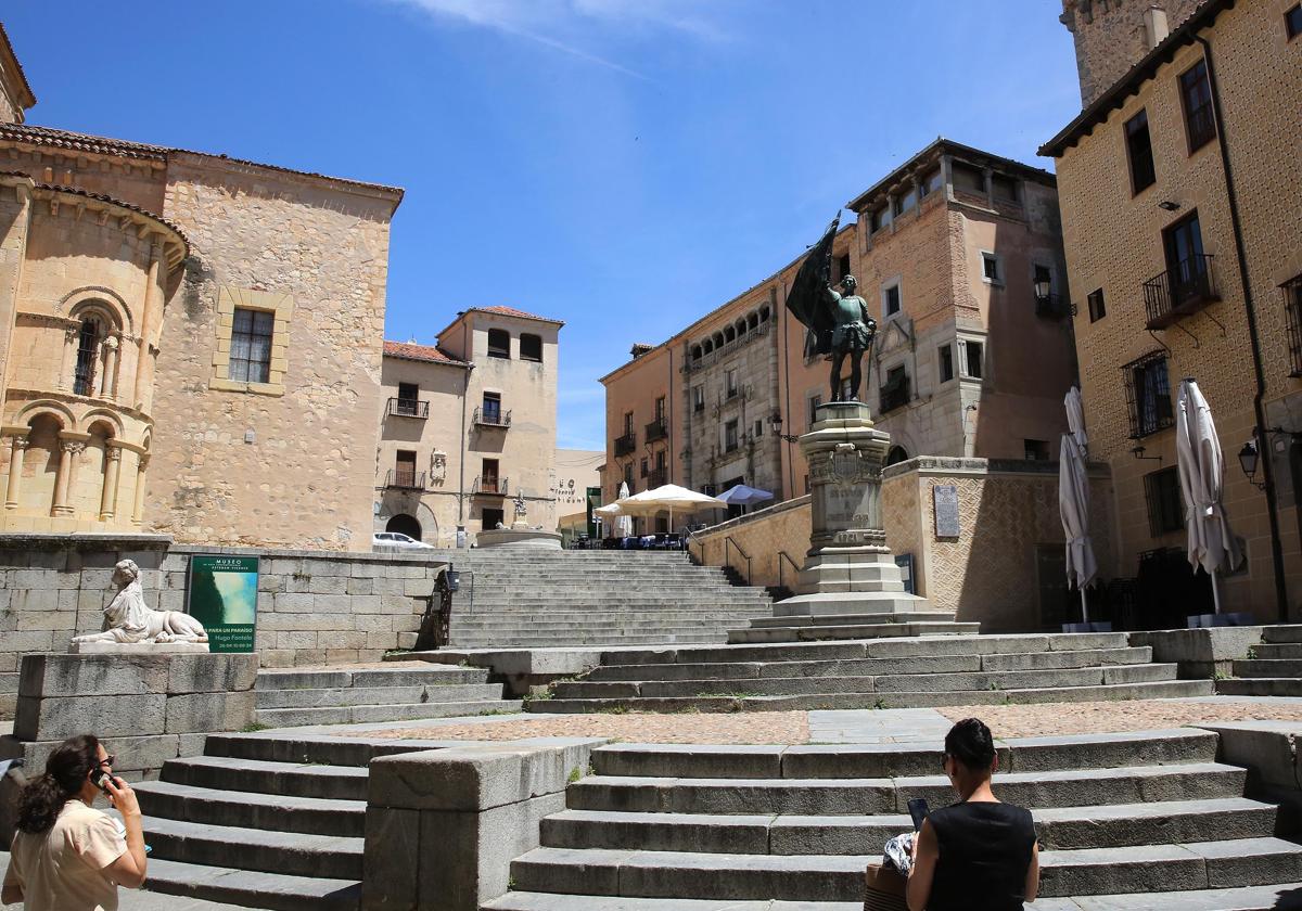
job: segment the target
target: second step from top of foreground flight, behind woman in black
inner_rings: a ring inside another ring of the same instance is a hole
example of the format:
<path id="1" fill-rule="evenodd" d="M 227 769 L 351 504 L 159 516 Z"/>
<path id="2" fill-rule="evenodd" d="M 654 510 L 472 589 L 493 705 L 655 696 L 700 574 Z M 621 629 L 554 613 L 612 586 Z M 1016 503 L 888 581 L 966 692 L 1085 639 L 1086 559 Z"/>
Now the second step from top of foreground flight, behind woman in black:
<path id="1" fill-rule="evenodd" d="M 1243 795 L 1246 772 L 1219 763 L 1000 774 L 1001 799 L 1032 809 L 1096 807 L 1152 800 L 1203 800 Z M 570 809 L 621 812 L 844 816 L 900 813 L 909 798 L 948 806 L 943 776 L 897 778 L 671 778 L 589 776 L 565 793 Z"/>

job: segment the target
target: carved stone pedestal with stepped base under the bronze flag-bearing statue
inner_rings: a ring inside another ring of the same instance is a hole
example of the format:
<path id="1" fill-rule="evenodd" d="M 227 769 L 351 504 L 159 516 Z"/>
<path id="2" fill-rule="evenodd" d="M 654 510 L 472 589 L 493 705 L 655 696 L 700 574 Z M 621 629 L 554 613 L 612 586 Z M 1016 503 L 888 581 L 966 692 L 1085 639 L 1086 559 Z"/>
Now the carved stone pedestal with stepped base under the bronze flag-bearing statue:
<path id="1" fill-rule="evenodd" d="M 728 642 L 870 639 L 979 631 L 905 591 L 881 523 L 881 467 L 891 436 L 862 402 L 820 405 L 801 437 L 810 469 L 810 551 L 794 597 Z"/>

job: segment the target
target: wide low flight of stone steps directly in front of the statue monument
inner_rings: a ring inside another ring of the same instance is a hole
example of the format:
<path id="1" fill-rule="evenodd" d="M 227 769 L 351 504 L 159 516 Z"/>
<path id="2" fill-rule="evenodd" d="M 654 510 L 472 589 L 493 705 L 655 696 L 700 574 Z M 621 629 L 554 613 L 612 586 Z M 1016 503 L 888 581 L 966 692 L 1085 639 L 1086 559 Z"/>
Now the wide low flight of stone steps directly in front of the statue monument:
<path id="1" fill-rule="evenodd" d="M 1206 696 L 1124 632 L 952 635 L 607 652 L 531 712 L 914 708 Z"/>

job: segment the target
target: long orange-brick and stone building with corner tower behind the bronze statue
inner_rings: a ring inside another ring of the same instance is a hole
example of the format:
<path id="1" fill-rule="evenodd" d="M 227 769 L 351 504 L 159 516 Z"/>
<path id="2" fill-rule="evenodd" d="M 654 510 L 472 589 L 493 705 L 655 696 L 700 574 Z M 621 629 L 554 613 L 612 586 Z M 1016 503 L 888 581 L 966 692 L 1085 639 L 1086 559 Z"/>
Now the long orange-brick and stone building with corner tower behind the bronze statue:
<path id="1" fill-rule="evenodd" d="M 833 275 L 878 320 L 866 388 L 892 461 L 918 454 L 1048 458 L 1074 379 L 1053 177 L 937 139 L 850 203 Z M 802 433 L 829 397 L 805 358 L 785 265 L 669 341 L 637 345 L 607 389 L 603 495 L 672 482 L 806 493 Z M 1036 280 L 1046 282 L 1039 299 Z"/>

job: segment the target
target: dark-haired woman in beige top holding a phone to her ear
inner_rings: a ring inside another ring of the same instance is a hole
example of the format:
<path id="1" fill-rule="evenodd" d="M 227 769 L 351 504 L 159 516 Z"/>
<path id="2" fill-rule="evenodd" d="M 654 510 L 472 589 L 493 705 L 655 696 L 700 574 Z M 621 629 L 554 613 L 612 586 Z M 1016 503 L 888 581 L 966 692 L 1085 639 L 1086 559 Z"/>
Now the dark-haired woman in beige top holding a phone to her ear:
<path id="1" fill-rule="evenodd" d="M 125 837 L 91 807 L 100 790 L 121 813 Z M 22 902 L 26 911 L 116 911 L 117 886 L 145 882 L 141 804 L 113 777 L 113 757 L 95 737 L 60 743 L 46 774 L 23 789 L 10 851 L 0 903 Z"/>

